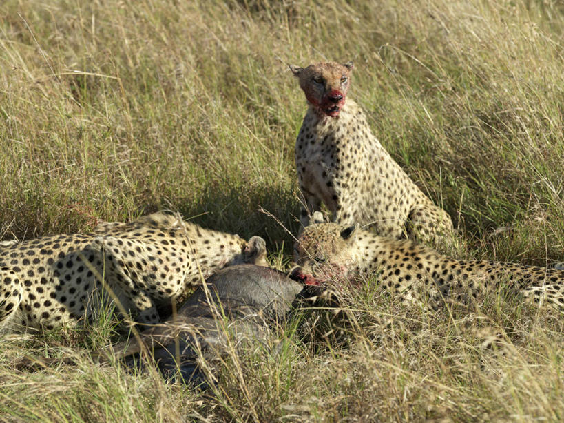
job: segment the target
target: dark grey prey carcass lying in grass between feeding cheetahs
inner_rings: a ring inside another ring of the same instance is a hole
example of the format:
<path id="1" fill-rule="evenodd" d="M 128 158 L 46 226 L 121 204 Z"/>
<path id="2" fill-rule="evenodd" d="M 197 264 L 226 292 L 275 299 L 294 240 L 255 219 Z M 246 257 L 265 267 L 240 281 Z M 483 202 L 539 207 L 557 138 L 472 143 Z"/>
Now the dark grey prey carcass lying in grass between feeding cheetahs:
<path id="1" fill-rule="evenodd" d="M 205 382 L 205 376 L 198 362 L 204 359 L 211 369 L 218 358 L 232 351 L 233 345 L 238 351 L 249 346 L 255 349 L 266 339 L 268 327 L 286 320 L 303 288 L 269 267 L 229 266 L 207 278 L 206 285 L 198 287 L 175 316 L 147 328 L 136 338 L 95 351 L 91 358 L 94 362 L 118 358 L 138 364 L 132 356 L 147 349 L 167 380 L 176 380 L 180 373 L 184 382 L 199 384 Z M 18 369 L 38 369 L 57 362 L 61 359 L 24 357 L 13 364 Z M 63 362 L 77 364 L 72 356 L 63 358 Z"/>

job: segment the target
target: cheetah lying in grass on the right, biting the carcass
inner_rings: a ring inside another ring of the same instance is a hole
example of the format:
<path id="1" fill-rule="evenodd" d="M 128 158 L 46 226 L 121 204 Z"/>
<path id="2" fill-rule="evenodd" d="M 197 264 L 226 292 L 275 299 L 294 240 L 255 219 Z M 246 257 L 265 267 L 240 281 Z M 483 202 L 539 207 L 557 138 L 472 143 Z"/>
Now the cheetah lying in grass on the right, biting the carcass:
<path id="1" fill-rule="evenodd" d="M 317 215 L 314 219 L 317 219 Z M 443 298 L 465 302 L 505 287 L 564 311 L 564 271 L 485 260 L 454 260 L 410 240 L 392 240 L 354 225 L 313 223 L 298 237 L 293 278 L 320 285 L 335 276 L 379 274 L 402 300 L 436 308 Z"/>

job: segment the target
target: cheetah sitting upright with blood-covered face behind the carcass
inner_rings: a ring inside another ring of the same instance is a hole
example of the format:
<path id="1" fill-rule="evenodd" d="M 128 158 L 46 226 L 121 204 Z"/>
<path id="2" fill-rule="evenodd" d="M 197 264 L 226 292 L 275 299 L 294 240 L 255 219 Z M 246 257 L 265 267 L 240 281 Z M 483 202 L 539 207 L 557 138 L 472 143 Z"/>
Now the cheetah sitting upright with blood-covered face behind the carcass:
<path id="1" fill-rule="evenodd" d="M 309 109 L 295 145 L 295 165 L 307 209 L 336 223 L 370 225 L 378 235 L 429 243 L 452 234 L 450 216 L 435 206 L 370 131 L 361 108 L 346 93 L 353 63 L 290 66 Z"/>

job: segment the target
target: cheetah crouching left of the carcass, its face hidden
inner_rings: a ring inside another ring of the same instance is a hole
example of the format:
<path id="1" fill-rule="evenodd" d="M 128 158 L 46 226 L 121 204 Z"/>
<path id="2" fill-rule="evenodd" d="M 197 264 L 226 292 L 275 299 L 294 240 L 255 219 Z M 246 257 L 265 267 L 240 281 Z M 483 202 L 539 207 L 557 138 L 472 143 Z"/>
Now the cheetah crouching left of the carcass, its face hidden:
<path id="1" fill-rule="evenodd" d="M 157 306 L 202 277 L 226 265 L 266 265 L 265 257 L 258 236 L 247 242 L 162 212 L 103 224 L 92 234 L 1 246 L 0 326 L 53 329 L 89 320 L 107 303 L 109 291 L 138 322 L 153 324 L 159 321 Z"/>

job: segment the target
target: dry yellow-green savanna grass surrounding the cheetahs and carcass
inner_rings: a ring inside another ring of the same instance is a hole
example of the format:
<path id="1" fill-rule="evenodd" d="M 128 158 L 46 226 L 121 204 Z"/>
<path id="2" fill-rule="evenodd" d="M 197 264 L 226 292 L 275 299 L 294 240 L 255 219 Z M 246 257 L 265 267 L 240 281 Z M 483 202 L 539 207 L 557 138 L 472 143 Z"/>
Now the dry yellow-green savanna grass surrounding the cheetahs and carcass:
<path id="1" fill-rule="evenodd" d="M 351 59 L 351 97 L 452 216 L 453 254 L 551 265 L 564 259 L 563 41 L 564 6 L 550 0 L 5 0 L 1 238 L 174 209 L 262 236 L 284 267 L 306 110 L 286 64 Z M 310 331 L 297 311 L 273 332 L 282 348 L 229 355 L 204 392 L 92 364 L 87 351 L 118 337 L 111 320 L 5 338 L 0 420 L 564 419 L 556 313 L 494 295 L 430 312 L 377 280 L 340 296 L 344 330 Z M 17 371 L 25 354 L 79 365 Z"/>

